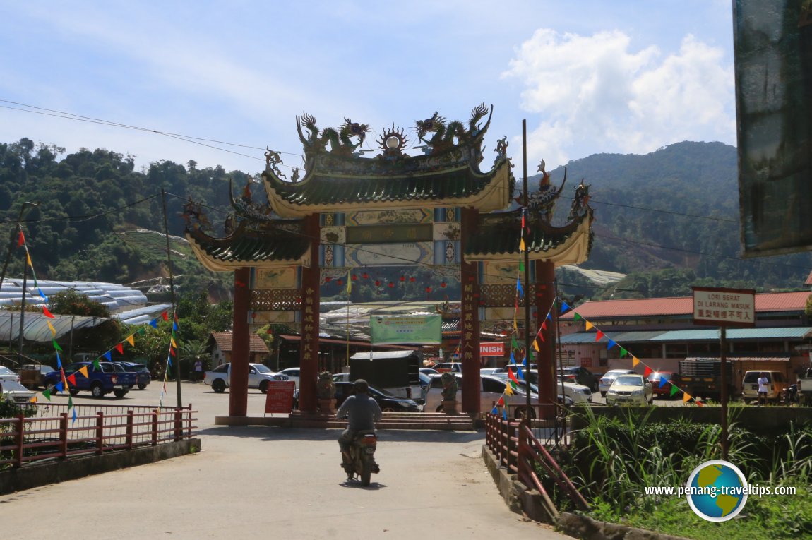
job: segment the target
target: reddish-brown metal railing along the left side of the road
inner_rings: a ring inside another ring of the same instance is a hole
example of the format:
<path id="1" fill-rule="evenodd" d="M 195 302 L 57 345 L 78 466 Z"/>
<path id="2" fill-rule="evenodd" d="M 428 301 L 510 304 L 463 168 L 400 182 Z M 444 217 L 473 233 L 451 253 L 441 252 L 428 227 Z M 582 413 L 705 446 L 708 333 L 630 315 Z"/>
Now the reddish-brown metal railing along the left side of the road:
<path id="1" fill-rule="evenodd" d="M 45 460 L 102 455 L 192 438 L 197 418 L 186 407 L 118 405 L 37 406 L 32 417 L 0 418 L 0 469 Z"/>

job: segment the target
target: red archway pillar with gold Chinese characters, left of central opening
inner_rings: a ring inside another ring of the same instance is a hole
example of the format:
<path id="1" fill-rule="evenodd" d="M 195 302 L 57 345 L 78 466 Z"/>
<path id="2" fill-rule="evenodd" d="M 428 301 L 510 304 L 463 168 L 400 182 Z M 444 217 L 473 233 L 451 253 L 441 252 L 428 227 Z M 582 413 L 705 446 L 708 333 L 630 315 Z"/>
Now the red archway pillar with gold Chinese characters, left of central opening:
<path id="1" fill-rule="evenodd" d="M 310 266 L 302 268 L 301 348 L 299 364 L 299 408 L 314 413 L 317 408 L 318 305 L 321 301 L 321 271 L 318 261 L 320 237 L 318 214 L 305 218 L 304 234 L 310 239 Z"/>

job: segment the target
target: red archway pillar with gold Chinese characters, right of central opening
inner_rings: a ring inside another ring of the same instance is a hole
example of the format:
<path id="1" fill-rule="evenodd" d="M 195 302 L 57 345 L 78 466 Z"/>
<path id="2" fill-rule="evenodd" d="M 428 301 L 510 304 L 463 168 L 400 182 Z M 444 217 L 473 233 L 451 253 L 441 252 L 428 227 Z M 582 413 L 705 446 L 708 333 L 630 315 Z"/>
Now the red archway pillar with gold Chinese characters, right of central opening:
<path id="1" fill-rule="evenodd" d="M 461 209 L 460 253 L 465 253 L 465 239 L 476 228 L 478 211 L 474 208 Z M 476 263 L 461 262 L 460 278 L 462 305 L 460 306 L 460 355 L 462 356 L 462 410 L 464 413 L 479 414 L 479 276 Z M 472 384 L 473 382 L 473 384 Z"/>

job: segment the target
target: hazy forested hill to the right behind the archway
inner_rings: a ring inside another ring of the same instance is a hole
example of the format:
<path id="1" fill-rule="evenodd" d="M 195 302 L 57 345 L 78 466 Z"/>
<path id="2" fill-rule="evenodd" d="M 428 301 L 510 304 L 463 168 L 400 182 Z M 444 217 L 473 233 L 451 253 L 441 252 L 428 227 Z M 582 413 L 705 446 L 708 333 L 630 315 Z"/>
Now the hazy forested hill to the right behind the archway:
<path id="1" fill-rule="evenodd" d="M 646 155 L 595 154 L 569 162 L 567 170 L 564 193 L 583 178 L 596 215 L 594 247 L 582 266 L 630 274 L 603 291 L 572 293 L 683 296 L 691 285 L 797 290 L 812 270 L 809 253 L 741 258 L 733 146 L 680 142 Z M 563 167 L 551 171 L 554 182 L 563 175 Z"/>

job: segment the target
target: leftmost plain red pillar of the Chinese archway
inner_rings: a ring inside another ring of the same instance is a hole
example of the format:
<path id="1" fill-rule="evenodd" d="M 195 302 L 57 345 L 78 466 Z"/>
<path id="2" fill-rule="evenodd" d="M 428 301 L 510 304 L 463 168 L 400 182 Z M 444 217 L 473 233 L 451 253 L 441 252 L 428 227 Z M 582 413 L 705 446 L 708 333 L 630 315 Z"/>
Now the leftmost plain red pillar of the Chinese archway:
<path id="1" fill-rule="evenodd" d="M 244 417 L 248 414 L 250 279 L 250 268 L 242 267 L 234 270 L 234 331 L 231 334 L 231 382 L 228 390 L 228 416 L 230 417 Z"/>

